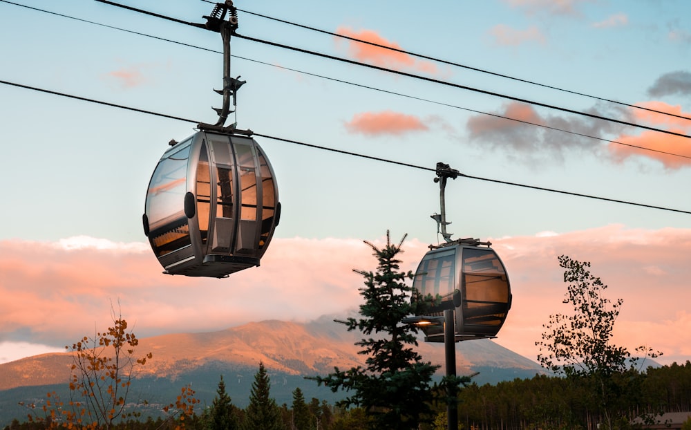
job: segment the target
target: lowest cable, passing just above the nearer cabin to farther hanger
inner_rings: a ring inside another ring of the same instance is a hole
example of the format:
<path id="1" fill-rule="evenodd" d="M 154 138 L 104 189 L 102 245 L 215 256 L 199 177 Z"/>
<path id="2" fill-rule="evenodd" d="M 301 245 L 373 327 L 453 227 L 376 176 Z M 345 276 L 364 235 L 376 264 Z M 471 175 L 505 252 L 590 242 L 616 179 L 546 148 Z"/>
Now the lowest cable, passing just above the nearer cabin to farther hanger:
<path id="1" fill-rule="evenodd" d="M 193 122 L 193 123 L 196 123 L 196 124 L 199 124 L 199 123 L 200 123 L 200 121 L 197 121 L 197 120 L 189 120 L 188 118 L 180 118 L 180 117 L 176 117 L 176 116 L 173 116 L 173 115 L 167 115 L 167 114 L 164 114 L 164 113 L 158 113 L 158 112 L 153 112 L 153 111 L 146 111 L 146 110 L 144 110 L 144 109 L 137 109 L 137 108 L 133 108 L 133 107 L 130 107 L 130 106 L 123 106 L 123 105 L 121 105 L 121 104 L 102 102 L 102 101 L 100 101 L 100 100 L 95 100 L 95 99 L 91 99 L 91 98 L 88 98 L 88 97 L 80 97 L 80 96 L 77 96 L 77 95 L 70 95 L 70 94 L 66 94 L 66 93 L 59 93 L 59 92 L 57 92 L 57 91 L 50 91 L 50 90 L 46 90 L 46 89 L 44 89 L 44 88 L 37 88 L 37 87 L 35 87 L 35 86 L 17 84 L 17 83 L 15 83 L 15 82 L 8 82 L 8 81 L 5 81 L 5 80 L 0 80 L 0 84 L 6 84 L 6 85 L 10 85 L 10 86 L 17 86 L 17 87 L 19 87 L 19 88 L 30 89 L 30 90 L 33 90 L 33 91 L 39 91 L 39 92 L 41 92 L 41 93 L 48 93 L 48 94 L 53 94 L 53 95 L 60 95 L 61 97 L 68 97 L 68 98 L 72 98 L 72 99 L 76 99 L 76 100 L 82 100 L 82 101 L 84 101 L 84 102 L 91 102 L 91 103 L 102 104 L 102 105 L 105 105 L 105 106 L 116 107 L 116 108 L 119 108 L 119 109 L 126 109 L 126 110 L 129 110 L 129 111 L 135 111 L 135 112 L 140 112 L 140 113 L 147 113 L 147 114 L 149 114 L 149 115 L 156 115 L 156 116 L 160 116 L 160 117 L 163 117 L 163 118 L 171 118 L 171 119 L 173 119 L 173 120 L 179 120 L 179 121 L 184 121 L 184 122 Z M 254 133 L 254 132 L 253 132 L 253 133 Z M 350 151 L 343 151 L 343 150 L 341 150 L 341 149 L 334 149 L 334 148 L 329 148 L 329 147 L 321 147 L 321 146 L 315 145 L 315 144 L 309 144 L 309 143 L 305 143 L 305 142 L 299 142 L 298 140 L 290 140 L 290 139 L 285 139 L 285 138 L 278 138 L 278 137 L 276 137 L 276 136 L 265 135 L 265 134 L 260 134 L 260 133 L 254 133 L 254 135 L 260 136 L 260 137 L 262 137 L 262 138 L 273 139 L 273 140 L 280 140 L 280 141 L 282 141 L 282 142 L 287 142 L 287 143 L 292 143 L 292 144 L 299 144 L 299 145 L 304 146 L 304 147 L 310 147 L 310 148 L 314 148 L 314 149 L 322 149 L 322 150 L 324 150 L 324 151 L 331 151 L 331 152 L 335 152 L 335 153 L 342 153 L 342 154 L 349 155 L 349 156 L 356 156 L 356 157 L 359 157 L 359 158 L 366 158 L 366 159 L 368 159 L 368 160 L 375 160 L 375 161 L 380 161 L 380 162 L 386 162 L 386 163 L 393 164 L 393 165 L 399 165 L 399 166 L 404 166 L 404 167 L 411 167 L 411 168 L 421 169 L 421 170 L 426 170 L 426 171 L 436 171 L 436 169 L 433 169 L 433 168 L 430 168 L 430 167 L 424 167 L 424 166 L 419 166 L 419 165 L 412 165 L 412 164 L 408 164 L 408 163 L 406 163 L 406 162 L 399 162 L 399 161 L 395 161 L 395 160 L 390 160 L 390 159 L 388 159 L 388 158 L 379 158 L 379 157 L 374 157 L 374 156 L 368 156 L 368 155 L 361 154 L 361 153 L 350 152 Z M 566 194 L 566 195 L 568 195 L 568 196 L 576 196 L 576 197 L 583 197 L 583 198 L 592 198 L 592 199 L 595 199 L 595 200 L 604 200 L 604 201 L 608 201 L 608 202 L 612 202 L 612 203 L 621 203 L 621 204 L 624 204 L 624 205 L 633 205 L 633 206 L 638 206 L 638 207 L 647 207 L 647 208 L 650 208 L 650 209 L 659 209 L 659 210 L 664 210 L 664 211 L 668 211 L 668 212 L 678 212 L 678 213 L 680 213 L 680 214 L 689 214 L 689 215 L 691 215 L 691 211 L 685 211 L 685 210 L 682 210 L 682 209 L 673 209 L 673 208 L 670 208 L 670 207 L 655 206 L 655 205 L 647 205 L 647 204 L 645 204 L 645 203 L 635 203 L 635 202 L 630 202 L 630 201 L 627 201 L 627 200 L 618 200 L 618 199 L 615 199 L 615 198 L 607 198 L 607 197 L 600 197 L 600 196 L 591 196 L 591 195 L 589 195 L 589 194 L 580 194 L 580 193 L 575 193 L 575 192 L 571 192 L 571 191 L 562 191 L 562 190 L 559 190 L 559 189 L 551 189 L 551 188 L 545 188 L 545 187 L 537 187 L 537 186 L 535 186 L 535 185 L 525 185 L 525 184 L 513 183 L 513 182 L 509 182 L 509 181 L 505 181 L 505 180 L 498 180 L 498 179 L 491 179 L 491 178 L 482 178 L 482 177 L 480 177 L 480 176 L 472 176 L 472 175 L 466 175 L 466 174 L 462 174 L 462 173 L 460 173 L 459 176 L 462 176 L 462 177 L 464 177 L 464 178 L 470 178 L 470 179 L 484 180 L 484 181 L 486 181 L 486 182 L 498 183 L 498 184 L 502 184 L 502 185 L 511 185 L 511 186 L 513 186 L 513 187 L 523 187 L 523 188 L 529 188 L 529 189 L 536 189 L 536 190 L 540 190 L 540 191 L 549 191 L 549 192 L 558 193 L 558 194 Z"/>

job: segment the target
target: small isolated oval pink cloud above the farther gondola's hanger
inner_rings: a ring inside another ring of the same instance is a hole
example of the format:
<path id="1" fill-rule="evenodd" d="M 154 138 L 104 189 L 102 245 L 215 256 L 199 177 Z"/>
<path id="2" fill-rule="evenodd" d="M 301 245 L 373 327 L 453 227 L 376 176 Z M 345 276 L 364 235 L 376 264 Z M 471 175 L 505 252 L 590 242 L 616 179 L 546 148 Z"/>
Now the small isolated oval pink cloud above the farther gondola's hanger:
<path id="1" fill-rule="evenodd" d="M 368 135 L 402 135 L 411 131 L 428 130 L 426 124 L 416 116 L 394 111 L 357 113 L 345 123 L 345 128 L 350 133 Z"/>

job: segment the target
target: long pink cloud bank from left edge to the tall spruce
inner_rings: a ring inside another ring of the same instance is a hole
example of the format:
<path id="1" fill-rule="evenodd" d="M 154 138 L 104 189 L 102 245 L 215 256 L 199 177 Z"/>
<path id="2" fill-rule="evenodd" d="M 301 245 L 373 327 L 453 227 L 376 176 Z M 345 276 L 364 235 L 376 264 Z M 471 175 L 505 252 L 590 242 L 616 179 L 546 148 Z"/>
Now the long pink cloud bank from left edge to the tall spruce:
<path id="1" fill-rule="evenodd" d="M 28 331 L 33 342 L 64 346 L 104 328 L 118 302 L 140 337 L 308 321 L 357 306 L 360 278 L 352 268 L 368 268 L 371 259 L 361 241 L 274 239 L 261 268 L 202 279 L 162 274 L 146 244 L 68 243 L 0 242 L 0 342 L 25 340 L 11 333 Z"/>

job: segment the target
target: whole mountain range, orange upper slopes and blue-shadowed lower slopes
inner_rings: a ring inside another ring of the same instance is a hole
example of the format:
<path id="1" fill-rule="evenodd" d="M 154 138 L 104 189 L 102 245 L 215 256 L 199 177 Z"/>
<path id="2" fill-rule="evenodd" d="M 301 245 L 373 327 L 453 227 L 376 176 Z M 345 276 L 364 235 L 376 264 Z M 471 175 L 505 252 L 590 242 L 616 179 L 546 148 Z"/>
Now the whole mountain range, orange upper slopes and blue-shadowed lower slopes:
<path id="1" fill-rule="evenodd" d="M 175 398 L 180 387 L 191 383 L 202 404 L 208 405 L 223 375 L 234 404 L 244 407 L 261 361 L 269 371 L 272 397 L 278 404 L 290 404 L 297 386 L 307 400 L 314 397 L 335 402 L 343 398 L 343 393 L 331 393 L 305 380 L 305 376 L 327 375 L 334 366 L 363 366 L 366 356 L 358 354 L 360 347 L 354 344 L 360 339 L 361 333 L 348 332 L 333 317 L 326 316 L 304 324 L 269 320 L 210 333 L 142 338 L 135 356 L 151 352 L 153 357 L 138 367 L 137 395 L 151 404 L 157 400 L 169 402 L 168 396 Z M 441 366 L 441 376 L 444 345 L 421 339 L 417 350 L 424 361 Z M 456 361 L 457 375 L 479 372 L 473 382 L 480 385 L 545 373 L 536 362 L 489 339 L 456 344 Z M 26 410 L 21 410 L 17 402 L 45 398 L 53 390 L 68 395 L 72 362 L 71 353 L 50 353 L 0 364 L 0 427 L 12 418 L 26 417 Z"/>

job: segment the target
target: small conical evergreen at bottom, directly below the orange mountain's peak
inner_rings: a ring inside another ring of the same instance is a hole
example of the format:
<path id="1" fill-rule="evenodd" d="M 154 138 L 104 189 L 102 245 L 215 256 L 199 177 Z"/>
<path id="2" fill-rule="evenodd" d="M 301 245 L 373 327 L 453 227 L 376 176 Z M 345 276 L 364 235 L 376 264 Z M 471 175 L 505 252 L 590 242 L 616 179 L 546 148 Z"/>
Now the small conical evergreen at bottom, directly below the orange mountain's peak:
<path id="1" fill-rule="evenodd" d="M 281 409 L 276 400 L 270 397 L 271 381 L 263 362 L 259 362 L 259 371 L 254 375 L 252 391 L 249 392 L 249 405 L 245 409 L 243 430 L 283 430 Z"/>

